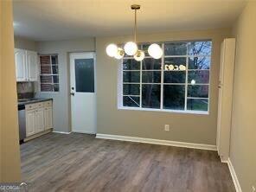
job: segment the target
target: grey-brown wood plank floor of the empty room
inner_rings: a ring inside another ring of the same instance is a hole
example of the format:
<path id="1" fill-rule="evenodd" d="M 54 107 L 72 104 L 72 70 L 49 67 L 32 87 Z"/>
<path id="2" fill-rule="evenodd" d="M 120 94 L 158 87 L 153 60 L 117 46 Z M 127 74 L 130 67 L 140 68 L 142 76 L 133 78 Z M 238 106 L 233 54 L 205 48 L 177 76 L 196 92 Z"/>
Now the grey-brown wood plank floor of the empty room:
<path id="1" fill-rule="evenodd" d="M 234 192 L 216 151 L 49 133 L 21 145 L 29 191 Z"/>

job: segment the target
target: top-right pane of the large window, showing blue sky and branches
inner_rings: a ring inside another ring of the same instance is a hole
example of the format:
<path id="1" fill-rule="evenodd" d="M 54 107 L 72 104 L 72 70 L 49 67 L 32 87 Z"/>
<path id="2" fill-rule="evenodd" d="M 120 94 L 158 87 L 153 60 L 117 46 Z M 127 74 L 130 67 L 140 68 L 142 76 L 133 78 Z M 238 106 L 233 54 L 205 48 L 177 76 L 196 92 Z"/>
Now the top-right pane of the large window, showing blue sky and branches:
<path id="1" fill-rule="evenodd" d="M 189 55 L 210 55 L 212 42 L 189 42 Z"/>

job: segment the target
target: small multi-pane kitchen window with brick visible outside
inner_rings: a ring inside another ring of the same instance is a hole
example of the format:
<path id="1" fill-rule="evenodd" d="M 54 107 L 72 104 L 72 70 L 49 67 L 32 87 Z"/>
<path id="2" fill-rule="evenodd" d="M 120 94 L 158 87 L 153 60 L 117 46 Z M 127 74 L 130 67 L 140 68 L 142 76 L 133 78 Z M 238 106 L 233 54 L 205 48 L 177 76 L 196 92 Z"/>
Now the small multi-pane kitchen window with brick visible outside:
<path id="1" fill-rule="evenodd" d="M 41 92 L 59 92 L 58 55 L 42 54 L 39 57 Z"/>

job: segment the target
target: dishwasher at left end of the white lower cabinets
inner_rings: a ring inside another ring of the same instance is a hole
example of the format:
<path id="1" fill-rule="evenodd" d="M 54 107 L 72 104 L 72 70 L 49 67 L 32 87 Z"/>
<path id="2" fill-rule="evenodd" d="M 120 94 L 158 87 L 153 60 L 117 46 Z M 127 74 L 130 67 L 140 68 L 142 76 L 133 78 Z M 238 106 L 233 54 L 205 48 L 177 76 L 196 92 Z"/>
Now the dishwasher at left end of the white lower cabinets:
<path id="1" fill-rule="evenodd" d="M 23 142 L 26 138 L 26 110 L 25 105 L 18 106 L 18 120 L 19 120 L 19 136 L 20 141 Z"/>

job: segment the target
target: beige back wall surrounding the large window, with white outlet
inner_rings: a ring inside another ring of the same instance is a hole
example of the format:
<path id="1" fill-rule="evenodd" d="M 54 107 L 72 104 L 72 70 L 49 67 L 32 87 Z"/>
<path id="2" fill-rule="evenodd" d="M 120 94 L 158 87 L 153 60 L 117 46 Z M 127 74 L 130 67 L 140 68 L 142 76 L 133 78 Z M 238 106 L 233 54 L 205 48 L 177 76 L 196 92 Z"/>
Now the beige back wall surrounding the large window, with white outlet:
<path id="1" fill-rule="evenodd" d="M 209 115 L 118 110 L 118 62 L 106 55 L 106 46 L 111 42 L 126 42 L 131 40 L 131 37 L 97 37 L 97 132 L 198 144 L 215 144 L 220 48 L 222 40 L 224 37 L 228 37 L 230 33 L 229 29 L 216 29 L 138 35 L 140 42 L 213 40 Z M 169 132 L 163 131 L 165 124 L 170 125 Z"/>

